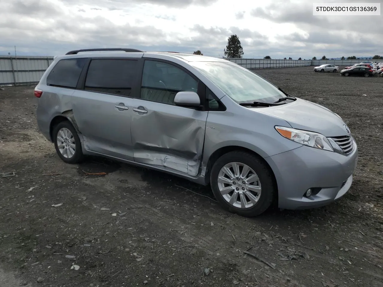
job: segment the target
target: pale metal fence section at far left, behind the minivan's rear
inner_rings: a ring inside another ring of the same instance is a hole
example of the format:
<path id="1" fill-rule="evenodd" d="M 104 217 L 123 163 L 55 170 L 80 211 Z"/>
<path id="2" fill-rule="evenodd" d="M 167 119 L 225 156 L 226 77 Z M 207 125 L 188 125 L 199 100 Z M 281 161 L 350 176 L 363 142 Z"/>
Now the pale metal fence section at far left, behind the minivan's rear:
<path id="1" fill-rule="evenodd" d="M 37 83 L 53 57 L 0 56 L 0 85 Z"/>

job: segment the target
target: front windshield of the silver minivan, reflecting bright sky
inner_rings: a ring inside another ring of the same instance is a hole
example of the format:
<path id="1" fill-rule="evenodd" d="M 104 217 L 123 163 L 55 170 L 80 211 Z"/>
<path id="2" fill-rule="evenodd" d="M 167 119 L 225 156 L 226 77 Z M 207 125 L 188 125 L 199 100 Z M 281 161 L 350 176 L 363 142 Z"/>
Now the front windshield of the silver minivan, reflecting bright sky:
<path id="1" fill-rule="evenodd" d="M 273 103 L 285 97 L 264 78 L 231 62 L 189 62 L 237 103 Z"/>

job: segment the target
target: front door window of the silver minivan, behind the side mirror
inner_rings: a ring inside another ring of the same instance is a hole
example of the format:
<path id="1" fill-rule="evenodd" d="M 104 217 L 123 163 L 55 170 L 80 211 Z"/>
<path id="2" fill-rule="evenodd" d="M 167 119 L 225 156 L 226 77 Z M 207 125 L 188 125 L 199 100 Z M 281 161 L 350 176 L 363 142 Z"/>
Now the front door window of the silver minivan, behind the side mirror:
<path id="1" fill-rule="evenodd" d="M 197 93 L 198 82 L 174 65 L 146 60 L 142 72 L 141 98 L 158 103 L 174 104 L 179 91 Z"/>

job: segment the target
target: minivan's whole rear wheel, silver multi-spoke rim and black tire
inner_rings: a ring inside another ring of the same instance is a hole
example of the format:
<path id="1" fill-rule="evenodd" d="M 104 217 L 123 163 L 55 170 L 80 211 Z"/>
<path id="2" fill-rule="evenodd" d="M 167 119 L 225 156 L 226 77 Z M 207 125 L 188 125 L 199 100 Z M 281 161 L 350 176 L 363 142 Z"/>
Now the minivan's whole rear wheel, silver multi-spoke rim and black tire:
<path id="1" fill-rule="evenodd" d="M 81 142 L 75 128 L 69 121 L 59 122 L 54 127 L 53 142 L 56 152 L 66 163 L 79 163 L 83 159 Z"/>

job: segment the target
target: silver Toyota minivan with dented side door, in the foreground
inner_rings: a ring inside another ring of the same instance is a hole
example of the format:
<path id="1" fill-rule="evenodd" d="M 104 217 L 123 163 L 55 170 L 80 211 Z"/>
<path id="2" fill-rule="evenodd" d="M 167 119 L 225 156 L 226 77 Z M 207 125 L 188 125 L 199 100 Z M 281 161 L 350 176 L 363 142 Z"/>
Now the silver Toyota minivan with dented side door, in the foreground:
<path id="1" fill-rule="evenodd" d="M 34 95 L 39 129 L 64 162 L 100 155 L 210 184 L 224 209 L 243 216 L 273 202 L 327 205 L 349 190 L 357 165 L 340 116 L 225 59 L 70 51 Z"/>

